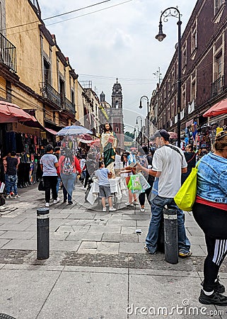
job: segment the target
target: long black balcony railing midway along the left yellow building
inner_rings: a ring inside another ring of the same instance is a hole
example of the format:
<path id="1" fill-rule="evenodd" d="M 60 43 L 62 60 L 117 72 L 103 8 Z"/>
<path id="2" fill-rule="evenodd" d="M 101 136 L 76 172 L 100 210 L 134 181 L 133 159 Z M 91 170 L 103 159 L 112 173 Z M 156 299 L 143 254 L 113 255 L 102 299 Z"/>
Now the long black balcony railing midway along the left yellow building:
<path id="1" fill-rule="evenodd" d="M 66 99 L 65 96 L 59 94 L 59 92 L 47 82 L 42 83 L 42 95 L 59 106 L 62 110 L 66 110 L 75 115 L 75 104 Z"/>

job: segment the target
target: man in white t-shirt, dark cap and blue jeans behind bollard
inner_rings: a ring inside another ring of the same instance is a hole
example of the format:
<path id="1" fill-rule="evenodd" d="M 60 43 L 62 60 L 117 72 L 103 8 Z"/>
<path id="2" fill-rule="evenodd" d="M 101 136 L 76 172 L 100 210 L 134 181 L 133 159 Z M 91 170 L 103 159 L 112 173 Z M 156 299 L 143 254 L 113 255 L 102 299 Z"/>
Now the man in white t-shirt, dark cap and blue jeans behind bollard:
<path id="1" fill-rule="evenodd" d="M 140 164 L 136 168 L 156 177 L 151 191 L 151 222 L 146 236 L 144 249 L 149 254 L 156 254 L 158 230 L 163 216 L 163 208 L 177 210 L 177 231 L 179 257 L 189 257 L 190 241 L 185 232 L 185 216 L 173 200 L 181 186 L 181 173 L 187 172 L 187 162 L 184 153 L 179 147 L 170 145 L 170 135 L 166 130 L 158 130 L 154 135 L 156 144 L 160 146 L 153 155 L 152 169 L 146 169 Z"/>

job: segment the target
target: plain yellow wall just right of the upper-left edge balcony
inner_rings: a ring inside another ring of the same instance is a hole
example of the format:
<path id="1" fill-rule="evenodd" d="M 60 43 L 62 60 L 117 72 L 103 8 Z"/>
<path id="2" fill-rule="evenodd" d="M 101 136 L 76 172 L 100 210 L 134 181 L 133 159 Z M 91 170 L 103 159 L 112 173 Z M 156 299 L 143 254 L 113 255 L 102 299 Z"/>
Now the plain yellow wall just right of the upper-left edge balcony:
<path id="1" fill-rule="evenodd" d="M 25 23 L 30 24 L 19 26 Z M 16 46 L 17 74 L 21 82 L 40 94 L 42 69 L 38 24 L 40 21 L 28 1 L 6 1 L 6 38 Z"/>

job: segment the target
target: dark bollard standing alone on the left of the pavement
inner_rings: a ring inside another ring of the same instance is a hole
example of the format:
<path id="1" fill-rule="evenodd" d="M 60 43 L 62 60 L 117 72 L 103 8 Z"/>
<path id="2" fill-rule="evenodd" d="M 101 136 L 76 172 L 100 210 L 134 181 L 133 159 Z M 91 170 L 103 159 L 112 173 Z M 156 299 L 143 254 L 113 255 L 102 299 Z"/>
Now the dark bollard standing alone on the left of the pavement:
<path id="1" fill-rule="evenodd" d="M 50 257 L 50 210 L 37 209 L 37 259 Z"/>

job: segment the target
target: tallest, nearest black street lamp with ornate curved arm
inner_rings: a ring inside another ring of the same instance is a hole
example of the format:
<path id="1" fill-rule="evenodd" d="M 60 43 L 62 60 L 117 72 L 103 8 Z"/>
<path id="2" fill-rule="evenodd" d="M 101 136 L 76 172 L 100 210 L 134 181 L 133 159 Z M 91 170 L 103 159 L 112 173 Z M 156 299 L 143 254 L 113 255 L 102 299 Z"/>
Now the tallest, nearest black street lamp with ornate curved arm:
<path id="1" fill-rule="evenodd" d="M 177 7 L 170 6 L 170 8 L 162 11 L 160 21 L 159 21 L 159 31 L 158 35 L 156 35 L 156 39 L 158 41 L 162 41 L 166 35 L 163 33 L 163 23 L 168 21 L 168 16 L 173 16 L 178 18 L 177 26 L 178 26 L 178 77 L 177 77 L 177 146 L 180 147 L 180 109 L 181 109 L 181 24 L 180 21 L 180 11 Z"/>

